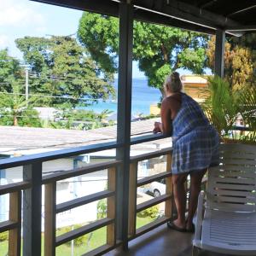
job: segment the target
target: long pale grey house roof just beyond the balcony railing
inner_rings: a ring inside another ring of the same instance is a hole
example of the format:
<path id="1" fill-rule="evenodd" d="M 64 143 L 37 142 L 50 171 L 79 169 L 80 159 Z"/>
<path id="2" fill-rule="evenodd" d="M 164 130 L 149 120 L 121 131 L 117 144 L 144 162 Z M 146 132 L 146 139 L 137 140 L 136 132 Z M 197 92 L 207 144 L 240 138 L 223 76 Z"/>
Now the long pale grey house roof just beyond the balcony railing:
<path id="1" fill-rule="evenodd" d="M 140 136 L 144 133 L 151 133 L 154 121 L 160 119 L 147 119 L 131 122 L 131 134 Z M 116 139 L 117 126 L 108 126 L 88 131 L 32 128 L 20 126 L 0 126 L 0 154 L 36 154 L 46 151 L 75 148 L 95 143 L 107 143 Z M 138 144 L 132 146 L 137 150 L 146 152 L 171 146 L 170 138 L 161 139 L 155 142 Z"/>

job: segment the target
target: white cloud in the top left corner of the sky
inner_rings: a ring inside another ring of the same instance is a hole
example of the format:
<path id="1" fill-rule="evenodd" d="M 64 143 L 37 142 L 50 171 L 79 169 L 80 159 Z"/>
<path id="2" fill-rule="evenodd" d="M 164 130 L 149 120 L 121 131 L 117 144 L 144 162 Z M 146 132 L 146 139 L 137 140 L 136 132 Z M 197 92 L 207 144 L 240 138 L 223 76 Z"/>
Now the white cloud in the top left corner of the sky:
<path id="1" fill-rule="evenodd" d="M 44 26 L 44 16 L 27 0 L 0 0 L 0 6 L 0 27 Z"/>

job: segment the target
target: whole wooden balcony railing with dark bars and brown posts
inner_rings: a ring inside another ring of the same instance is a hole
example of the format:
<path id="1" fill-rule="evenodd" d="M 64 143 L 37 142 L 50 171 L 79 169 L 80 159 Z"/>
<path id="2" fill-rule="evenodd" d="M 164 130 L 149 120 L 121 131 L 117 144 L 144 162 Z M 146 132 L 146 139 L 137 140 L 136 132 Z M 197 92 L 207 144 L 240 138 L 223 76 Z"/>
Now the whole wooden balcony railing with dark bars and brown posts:
<path id="1" fill-rule="evenodd" d="M 132 144 L 144 143 L 155 139 L 164 138 L 162 136 L 138 137 L 131 140 Z M 122 241 L 117 236 L 117 213 L 119 205 L 117 196 L 119 191 L 117 186 L 117 175 L 122 160 L 108 160 L 100 164 L 74 168 L 65 172 L 56 172 L 49 175 L 42 173 L 44 162 L 49 160 L 59 160 L 70 156 L 89 154 L 106 149 L 117 149 L 122 145 L 116 143 L 102 143 L 82 148 L 71 148 L 58 150 L 44 154 L 33 154 L 19 158 L 5 159 L 0 161 L 0 169 L 8 169 L 16 166 L 23 166 L 23 181 L 0 186 L 0 195 L 9 194 L 9 219 L 0 223 L 0 232 L 9 231 L 9 255 L 20 255 L 21 247 L 23 255 L 40 255 L 42 243 L 42 205 L 44 205 L 44 255 L 55 255 L 56 247 L 67 241 L 72 241 L 79 236 L 84 236 L 94 230 L 107 227 L 106 244 L 84 255 L 96 255 L 106 253 L 114 247 L 119 246 Z M 155 157 L 166 155 L 166 172 L 154 174 L 153 176 L 137 179 L 138 162 L 149 160 Z M 172 148 L 165 148 L 148 154 L 141 154 L 131 157 L 130 160 L 130 185 L 129 185 L 129 218 L 125 221 L 128 224 L 127 239 L 131 240 L 154 229 L 160 224 L 172 218 Z M 78 177 L 84 174 L 108 170 L 108 188 L 100 192 L 85 195 L 71 201 L 56 203 L 56 183 L 70 177 Z M 137 188 L 148 183 L 166 178 L 166 195 L 137 204 Z M 44 202 L 42 202 L 42 188 L 44 188 Z M 107 199 L 107 217 L 98 219 L 90 224 L 86 224 L 76 230 L 56 236 L 56 215 L 60 212 L 71 210 L 89 204 L 93 201 Z M 137 228 L 137 212 L 141 212 L 148 207 L 153 207 L 165 202 L 163 216 L 155 219 L 150 224 Z M 22 219 L 21 219 L 22 216 Z M 22 237 L 21 237 L 22 230 Z M 22 243 L 22 246 L 21 246 Z"/>

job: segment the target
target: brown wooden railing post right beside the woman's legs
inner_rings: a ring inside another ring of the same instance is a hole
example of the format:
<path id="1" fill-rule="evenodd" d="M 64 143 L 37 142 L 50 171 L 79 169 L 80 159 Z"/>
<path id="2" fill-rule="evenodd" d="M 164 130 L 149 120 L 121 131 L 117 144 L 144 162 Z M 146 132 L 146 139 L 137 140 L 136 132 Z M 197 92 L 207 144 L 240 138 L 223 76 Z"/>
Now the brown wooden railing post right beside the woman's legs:
<path id="1" fill-rule="evenodd" d="M 166 172 L 171 172 L 172 154 L 166 155 Z M 172 176 L 166 177 L 166 195 L 172 195 Z M 166 218 L 172 218 L 172 198 L 166 201 L 165 208 Z"/>

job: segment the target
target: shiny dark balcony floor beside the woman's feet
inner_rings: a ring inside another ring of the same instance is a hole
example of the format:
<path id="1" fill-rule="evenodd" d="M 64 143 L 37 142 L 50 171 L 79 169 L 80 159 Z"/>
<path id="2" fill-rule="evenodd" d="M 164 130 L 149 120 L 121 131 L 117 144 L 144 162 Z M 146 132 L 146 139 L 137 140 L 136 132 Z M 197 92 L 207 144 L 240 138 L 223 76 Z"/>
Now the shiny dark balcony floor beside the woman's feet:
<path id="1" fill-rule="evenodd" d="M 129 250 L 115 249 L 106 256 L 190 256 L 193 235 L 169 230 L 161 225 L 155 230 L 130 241 Z M 224 256 L 219 253 L 201 252 L 201 256 Z"/>

